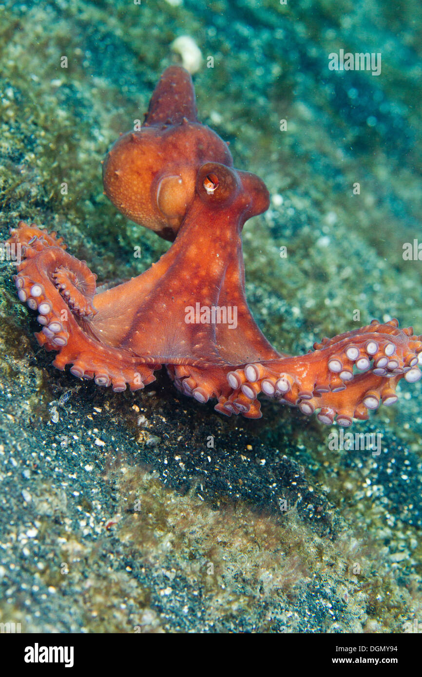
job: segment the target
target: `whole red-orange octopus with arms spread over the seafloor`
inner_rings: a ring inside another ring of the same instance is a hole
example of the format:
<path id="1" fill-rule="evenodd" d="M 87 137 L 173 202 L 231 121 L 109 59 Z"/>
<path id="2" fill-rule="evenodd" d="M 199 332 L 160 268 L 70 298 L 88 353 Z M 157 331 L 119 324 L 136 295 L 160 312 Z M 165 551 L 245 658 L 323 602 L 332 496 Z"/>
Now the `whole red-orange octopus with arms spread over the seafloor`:
<path id="1" fill-rule="evenodd" d="M 268 209 L 268 190 L 234 169 L 228 144 L 198 122 L 184 68 L 165 70 L 144 123 L 108 152 L 103 181 L 123 215 L 172 244 L 140 276 L 97 289 L 56 233 L 23 221 L 10 230 L 22 252 L 18 298 L 37 313 L 35 336 L 56 351 L 56 368 L 120 392 L 144 388 L 165 366 L 181 393 L 216 399 L 220 414 L 259 418 L 262 394 L 345 427 L 394 404 L 401 378 L 421 378 L 422 336 L 397 320 L 373 320 L 297 356 L 263 336 L 245 297 L 241 234 Z"/>

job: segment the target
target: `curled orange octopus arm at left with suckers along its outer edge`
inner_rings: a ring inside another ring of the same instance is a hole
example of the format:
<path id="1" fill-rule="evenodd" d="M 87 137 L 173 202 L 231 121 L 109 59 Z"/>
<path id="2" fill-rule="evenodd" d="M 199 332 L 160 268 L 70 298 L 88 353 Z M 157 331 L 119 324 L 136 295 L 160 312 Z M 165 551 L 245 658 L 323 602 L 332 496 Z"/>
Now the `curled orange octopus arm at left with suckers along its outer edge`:
<path id="1" fill-rule="evenodd" d="M 54 366 L 64 370 L 72 364 L 74 376 L 95 378 L 97 385 L 112 385 L 114 391 L 125 390 L 126 384 L 138 390 L 155 380 L 153 372 L 161 365 L 146 365 L 130 351 L 96 339 L 90 324 L 96 276 L 85 261 L 66 253 L 54 234 L 23 221 L 19 230 L 12 229 L 10 241 L 25 246 L 14 276 L 18 297 L 38 312 L 42 330 L 35 336 L 45 349 L 58 351 Z"/>

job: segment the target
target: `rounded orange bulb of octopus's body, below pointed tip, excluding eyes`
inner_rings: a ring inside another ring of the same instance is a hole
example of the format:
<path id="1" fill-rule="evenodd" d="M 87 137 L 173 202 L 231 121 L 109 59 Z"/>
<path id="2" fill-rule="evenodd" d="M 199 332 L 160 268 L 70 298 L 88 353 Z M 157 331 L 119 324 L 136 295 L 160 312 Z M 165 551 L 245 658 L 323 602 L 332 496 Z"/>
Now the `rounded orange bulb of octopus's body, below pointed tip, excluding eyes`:
<path id="1" fill-rule="evenodd" d="M 208 127 L 182 122 L 142 127 L 116 142 L 103 165 L 104 191 L 135 223 L 175 239 L 207 160 L 231 167 L 227 144 Z"/>

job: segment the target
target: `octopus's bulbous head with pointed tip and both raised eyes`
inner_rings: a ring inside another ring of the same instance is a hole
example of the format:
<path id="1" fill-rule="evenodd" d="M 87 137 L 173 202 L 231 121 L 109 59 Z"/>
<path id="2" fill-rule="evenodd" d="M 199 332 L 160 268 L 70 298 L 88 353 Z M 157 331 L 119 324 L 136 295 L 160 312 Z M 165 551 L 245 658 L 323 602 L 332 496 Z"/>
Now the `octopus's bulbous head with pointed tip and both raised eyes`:
<path id="1" fill-rule="evenodd" d="M 228 144 L 198 123 L 190 74 L 169 66 L 150 100 L 144 125 L 122 135 L 103 165 L 104 191 L 125 216 L 171 242 L 194 201 L 233 209 L 242 223 L 268 209 L 268 191 L 233 169 Z"/>

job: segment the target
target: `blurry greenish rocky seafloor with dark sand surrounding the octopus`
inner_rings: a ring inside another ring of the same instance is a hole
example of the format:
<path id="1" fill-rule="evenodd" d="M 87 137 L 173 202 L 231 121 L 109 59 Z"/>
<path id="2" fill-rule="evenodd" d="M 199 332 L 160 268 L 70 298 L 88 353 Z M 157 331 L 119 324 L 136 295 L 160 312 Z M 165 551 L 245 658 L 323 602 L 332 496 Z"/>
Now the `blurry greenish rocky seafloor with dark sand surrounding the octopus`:
<path id="1" fill-rule="evenodd" d="M 188 35 L 203 55 L 200 119 L 272 196 L 243 231 L 266 336 L 307 351 L 355 328 L 356 310 L 361 324 L 398 317 L 422 332 L 422 262 L 402 257 L 420 236 L 421 14 L 416 0 L 1 3 L 0 238 L 19 219 L 57 230 L 100 281 L 163 253 L 102 194 L 100 161 Z M 330 71 L 340 48 L 381 53 L 381 74 Z M 260 420 L 225 418 L 165 373 L 111 393 L 51 366 L 7 261 L 0 273 L 1 622 L 404 632 L 421 621 L 420 383 L 354 425 L 382 436 L 379 455 L 330 450 L 330 427 L 270 401 Z"/>

